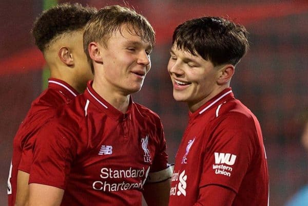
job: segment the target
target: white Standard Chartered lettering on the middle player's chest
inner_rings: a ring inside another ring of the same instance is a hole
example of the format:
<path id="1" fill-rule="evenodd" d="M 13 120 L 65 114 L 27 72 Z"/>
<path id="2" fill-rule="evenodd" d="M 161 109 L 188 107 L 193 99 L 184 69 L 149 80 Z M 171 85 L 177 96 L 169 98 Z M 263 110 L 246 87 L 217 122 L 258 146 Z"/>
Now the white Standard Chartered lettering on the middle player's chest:
<path id="1" fill-rule="evenodd" d="M 102 179 L 107 179 L 103 181 L 94 181 L 92 188 L 94 190 L 101 190 L 105 192 L 123 191 L 130 189 L 142 189 L 143 188 L 143 177 L 145 171 L 144 167 L 142 169 L 133 169 L 129 167 L 127 170 L 112 170 L 111 168 L 102 168 L 100 177 Z M 119 178 L 141 178 L 138 182 L 127 182 L 123 180 L 122 182 L 112 182 L 112 179 Z"/>

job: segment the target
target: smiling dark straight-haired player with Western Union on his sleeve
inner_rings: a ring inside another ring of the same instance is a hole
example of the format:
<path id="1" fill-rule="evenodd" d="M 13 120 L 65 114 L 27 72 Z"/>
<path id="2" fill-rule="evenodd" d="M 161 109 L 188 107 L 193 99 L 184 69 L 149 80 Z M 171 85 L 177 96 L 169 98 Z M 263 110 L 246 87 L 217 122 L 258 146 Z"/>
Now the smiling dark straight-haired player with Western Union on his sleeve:
<path id="1" fill-rule="evenodd" d="M 221 17 L 179 25 L 168 72 L 189 122 L 171 178 L 169 206 L 265 206 L 268 173 L 261 128 L 230 80 L 247 52 L 246 29 Z"/>

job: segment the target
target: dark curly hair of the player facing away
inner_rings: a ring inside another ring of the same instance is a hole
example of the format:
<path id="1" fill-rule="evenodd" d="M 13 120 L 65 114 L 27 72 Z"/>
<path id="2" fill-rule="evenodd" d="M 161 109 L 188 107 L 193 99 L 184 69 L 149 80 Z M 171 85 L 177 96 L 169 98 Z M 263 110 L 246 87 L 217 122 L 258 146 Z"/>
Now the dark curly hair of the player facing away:
<path id="1" fill-rule="evenodd" d="M 78 31 L 85 27 L 95 8 L 81 4 L 59 4 L 43 11 L 35 20 L 32 35 L 35 45 L 44 52 L 61 34 Z"/>

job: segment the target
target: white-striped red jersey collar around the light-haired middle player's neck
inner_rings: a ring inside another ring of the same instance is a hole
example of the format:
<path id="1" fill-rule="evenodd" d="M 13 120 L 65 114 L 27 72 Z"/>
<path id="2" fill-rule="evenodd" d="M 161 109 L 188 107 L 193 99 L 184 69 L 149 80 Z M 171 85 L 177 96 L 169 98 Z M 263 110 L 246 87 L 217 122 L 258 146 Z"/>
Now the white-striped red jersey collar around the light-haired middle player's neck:
<path id="1" fill-rule="evenodd" d="M 131 108 L 132 108 L 132 99 L 129 97 L 129 105 L 125 114 L 119 111 L 117 108 L 113 107 L 106 100 L 104 100 L 94 89 L 92 88 L 93 81 L 89 81 L 87 89 L 84 92 L 84 96 L 93 103 L 96 107 L 102 110 L 106 115 L 110 116 L 114 120 L 123 121 L 126 118 L 130 119 Z"/>

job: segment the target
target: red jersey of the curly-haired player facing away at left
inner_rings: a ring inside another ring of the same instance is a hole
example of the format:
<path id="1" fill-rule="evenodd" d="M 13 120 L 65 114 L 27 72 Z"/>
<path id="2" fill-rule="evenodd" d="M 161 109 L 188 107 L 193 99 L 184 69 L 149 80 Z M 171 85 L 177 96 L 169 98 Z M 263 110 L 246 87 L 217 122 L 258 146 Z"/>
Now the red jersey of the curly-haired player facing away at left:
<path id="1" fill-rule="evenodd" d="M 33 135 L 54 117 L 57 107 L 71 101 L 77 95 L 78 92 L 66 82 L 50 78 L 48 88 L 32 102 L 13 140 L 12 163 L 8 179 L 9 206 L 15 204 L 18 170 L 30 173 Z"/>

